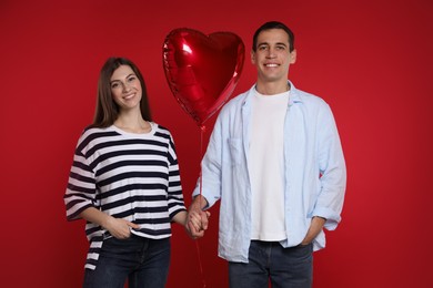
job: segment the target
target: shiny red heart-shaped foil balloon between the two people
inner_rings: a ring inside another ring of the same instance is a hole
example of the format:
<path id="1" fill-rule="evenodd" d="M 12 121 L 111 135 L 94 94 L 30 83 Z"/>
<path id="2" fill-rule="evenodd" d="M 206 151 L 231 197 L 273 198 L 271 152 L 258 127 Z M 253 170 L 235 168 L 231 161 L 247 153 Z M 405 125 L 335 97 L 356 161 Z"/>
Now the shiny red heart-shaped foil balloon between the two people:
<path id="1" fill-rule="evenodd" d="M 241 75 L 244 44 L 231 32 L 205 35 L 172 30 L 163 44 L 163 66 L 170 90 L 181 107 L 203 126 L 230 97 Z"/>

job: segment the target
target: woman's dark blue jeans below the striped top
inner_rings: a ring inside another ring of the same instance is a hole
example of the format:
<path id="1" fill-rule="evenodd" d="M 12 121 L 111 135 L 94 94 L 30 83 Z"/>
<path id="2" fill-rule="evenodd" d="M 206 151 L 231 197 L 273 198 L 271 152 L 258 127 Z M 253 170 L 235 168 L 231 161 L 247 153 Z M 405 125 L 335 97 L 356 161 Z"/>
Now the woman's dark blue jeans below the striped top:
<path id="1" fill-rule="evenodd" d="M 170 238 L 149 239 L 131 235 L 108 238 L 94 270 L 85 269 L 83 288 L 163 288 L 170 266 Z"/>

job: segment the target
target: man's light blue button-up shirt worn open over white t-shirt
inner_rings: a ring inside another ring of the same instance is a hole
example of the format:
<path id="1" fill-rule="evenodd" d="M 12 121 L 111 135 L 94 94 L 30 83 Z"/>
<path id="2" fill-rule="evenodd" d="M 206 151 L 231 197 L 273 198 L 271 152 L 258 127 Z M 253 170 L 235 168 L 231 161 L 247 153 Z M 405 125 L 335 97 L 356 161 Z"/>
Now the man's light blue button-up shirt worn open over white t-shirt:
<path id="1" fill-rule="evenodd" d="M 284 207 L 286 239 L 283 247 L 299 245 L 311 218 L 326 218 L 333 230 L 341 220 L 346 171 L 340 136 L 330 106 L 320 97 L 291 84 L 284 123 Z M 202 194 L 209 207 L 220 203 L 219 256 L 248 263 L 251 241 L 251 183 L 249 134 L 251 99 L 255 85 L 229 101 L 221 110 L 203 157 L 193 196 Z M 325 246 L 324 233 L 313 241 Z"/>

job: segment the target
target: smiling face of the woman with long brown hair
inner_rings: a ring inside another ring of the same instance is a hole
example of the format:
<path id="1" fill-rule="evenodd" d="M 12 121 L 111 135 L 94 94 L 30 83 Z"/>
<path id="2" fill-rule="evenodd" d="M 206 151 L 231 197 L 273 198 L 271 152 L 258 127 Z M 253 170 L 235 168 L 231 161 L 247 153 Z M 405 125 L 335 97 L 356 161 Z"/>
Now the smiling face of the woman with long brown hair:
<path id="1" fill-rule="evenodd" d="M 111 94 L 120 111 L 140 109 L 142 96 L 139 78 L 129 65 L 114 70 L 110 79 Z"/>

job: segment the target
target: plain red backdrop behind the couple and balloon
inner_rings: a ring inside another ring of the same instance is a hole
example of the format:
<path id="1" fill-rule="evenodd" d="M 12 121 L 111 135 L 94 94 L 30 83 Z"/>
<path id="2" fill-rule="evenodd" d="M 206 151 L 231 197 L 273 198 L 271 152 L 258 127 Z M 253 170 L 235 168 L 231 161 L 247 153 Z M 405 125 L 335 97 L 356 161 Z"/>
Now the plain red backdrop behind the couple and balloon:
<path id="1" fill-rule="evenodd" d="M 315 254 L 314 287 L 433 287 L 432 8 L 430 0 L 1 0 L 0 286 L 81 285 L 83 222 L 67 223 L 62 196 L 108 56 L 142 70 L 154 120 L 174 135 L 189 204 L 200 131 L 167 84 L 164 37 L 175 28 L 239 34 L 248 53 L 238 94 L 255 80 L 254 30 L 281 20 L 296 34 L 290 78 L 331 104 L 349 173 L 341 226 Z M 226 287 L 218 207 L 211 212 L 199 241 L 203 277 L 194 241 L 177 226 L 168 287 L 202 287 L 202 278 Z"/>

